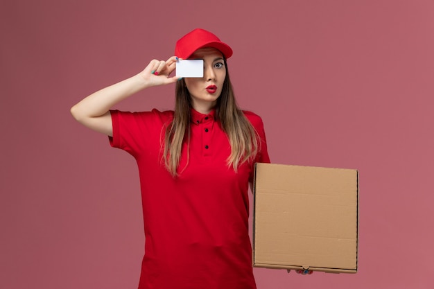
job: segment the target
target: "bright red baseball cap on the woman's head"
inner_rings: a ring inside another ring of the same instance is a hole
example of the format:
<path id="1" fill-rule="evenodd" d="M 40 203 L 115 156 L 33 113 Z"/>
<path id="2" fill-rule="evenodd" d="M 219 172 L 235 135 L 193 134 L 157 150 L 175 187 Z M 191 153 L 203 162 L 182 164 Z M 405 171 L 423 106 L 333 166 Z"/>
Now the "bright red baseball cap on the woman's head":
<path id="1" fill-rule="evenodd" d="M 213 33 L 200 28 L 196 28 L 187 33 L 176 42 L 175 56 L 187 59 L 194 51 L 204 47 L 218 49 L 223 53 L 223 55 L 225 55 L 225 58 L 230 58 L 232 56 L 232 49 L 229 45 L 221 42 Z"/>

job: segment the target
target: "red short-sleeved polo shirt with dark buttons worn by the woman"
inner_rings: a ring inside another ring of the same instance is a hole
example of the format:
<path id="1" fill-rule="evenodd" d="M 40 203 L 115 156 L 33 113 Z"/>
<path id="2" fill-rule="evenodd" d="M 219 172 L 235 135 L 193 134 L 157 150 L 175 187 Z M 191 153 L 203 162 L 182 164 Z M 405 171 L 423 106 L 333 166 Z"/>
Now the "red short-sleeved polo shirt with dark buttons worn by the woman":
<path id="1" fill-rule="evenodd" d="M 145 256 L 139 289 L 253 289 L 248 234 L 248 182 L 254 162 L 228 167 L 231 148 L 214 111 L 191 110 L 191 141 L 182 148 L 180 175 L 162 162 L 164 125 L 173 112 L 112 111 L 110 143 L 139 167 Z M 244 112 L 261 138 L 256 162 L 270 162 L 263 123 Z"/>

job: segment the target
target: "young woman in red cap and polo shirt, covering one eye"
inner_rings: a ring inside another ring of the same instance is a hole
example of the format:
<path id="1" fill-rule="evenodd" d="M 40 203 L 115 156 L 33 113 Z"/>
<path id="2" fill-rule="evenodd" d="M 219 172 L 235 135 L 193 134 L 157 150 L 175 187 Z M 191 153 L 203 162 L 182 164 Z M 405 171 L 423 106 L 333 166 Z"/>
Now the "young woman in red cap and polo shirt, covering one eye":
<path id="1" fill-rule="evenodd" d="M 139 167 L 145 255 L 139 288 L 256 288 L 248 235 L 248 184 L 269 162 L 261 118 L 236 105 L 232 49 L 207 30 L 177 41 L 175 56 L 87 96 L 71 108 Z M 202 78 L 171 76 L 178 58 L 204 60 Z M 176 82 L 175 110 L 119 112 L 121 100 Z"/>

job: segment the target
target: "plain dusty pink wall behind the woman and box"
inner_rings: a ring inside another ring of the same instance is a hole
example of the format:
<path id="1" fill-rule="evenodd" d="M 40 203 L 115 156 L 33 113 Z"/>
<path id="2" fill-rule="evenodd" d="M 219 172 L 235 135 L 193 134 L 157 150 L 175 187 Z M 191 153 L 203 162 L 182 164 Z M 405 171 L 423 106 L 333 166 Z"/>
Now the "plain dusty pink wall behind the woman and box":
<path id="1" fill-rule="evenodd" d="M 280 164 L 360 170 L 357 274 L 259 289 L 433 288 L 434 1 L 1 1 L 0 288 L 137 288 L 134 159 L 69 108 L 202 27 Z M 123 110 L 171 109 L 173 87 Z M 300 222 L 303 216 L 300 216 Z M 206 286 L 204 287 L 206 288 Z"/>

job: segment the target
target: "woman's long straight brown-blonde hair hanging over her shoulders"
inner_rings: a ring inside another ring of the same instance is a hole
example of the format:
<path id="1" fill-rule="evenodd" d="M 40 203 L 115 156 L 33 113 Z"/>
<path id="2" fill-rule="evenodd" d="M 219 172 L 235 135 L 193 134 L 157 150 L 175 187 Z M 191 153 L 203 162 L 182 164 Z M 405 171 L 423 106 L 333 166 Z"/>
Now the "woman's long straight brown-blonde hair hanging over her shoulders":
<path id="1" fill-rule="evenodd" d="M 227 134 L 231 146 L 231 154 L 226 160 L 227 166 L 232 166 L 237 171 L 243 162 L 256 157 L 260 142 L 252 124 L 236 104 L 226 60 L 225 69 L 223 89 L 216 103 L 216 118 Z M 175 97 L 175 114 L 173 121 L 166 127 L 163 152 L 164 165 L 174 177 L 177 176 L 180 165 L 182 143 L 190 141 L 191 96 L 184 80 L 177 82 Z"/>

